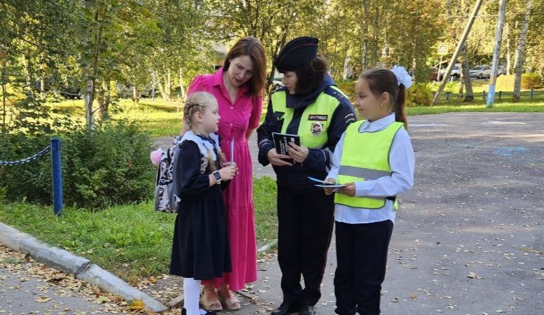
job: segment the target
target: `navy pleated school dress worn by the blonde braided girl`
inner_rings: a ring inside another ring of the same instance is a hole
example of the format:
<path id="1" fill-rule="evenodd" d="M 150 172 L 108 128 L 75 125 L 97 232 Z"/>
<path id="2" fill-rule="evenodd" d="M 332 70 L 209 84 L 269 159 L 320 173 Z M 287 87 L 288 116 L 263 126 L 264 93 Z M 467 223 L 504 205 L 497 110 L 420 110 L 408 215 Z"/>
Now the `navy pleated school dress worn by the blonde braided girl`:
<path id="1" fill-rule="evenodd" d="M 215 153 L 219 156 L 217 150 Z M 175 190 L 182 201 L 174 228 L 170 274 L 196 280 L 212 280 L 232 270 L 222 199 L 228 182 L 210 187 L 212 171 L 209 165 L 203 169 L 205 159 L 208 157 L 193 141 L 183 141 L 174 159 Z M 219 162 L 215 161 L 215 167 L 219 169 Z"/>

